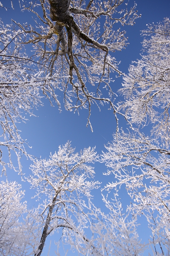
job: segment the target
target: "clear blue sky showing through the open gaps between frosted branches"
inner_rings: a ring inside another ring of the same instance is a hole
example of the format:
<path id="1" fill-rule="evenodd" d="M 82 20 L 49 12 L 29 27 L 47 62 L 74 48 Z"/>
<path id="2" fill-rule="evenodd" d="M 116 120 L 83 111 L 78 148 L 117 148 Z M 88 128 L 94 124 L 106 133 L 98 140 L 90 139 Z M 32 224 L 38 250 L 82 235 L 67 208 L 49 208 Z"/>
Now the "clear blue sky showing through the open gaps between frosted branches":
<path id="1" fill-rule="evenodd" d="M 13 0 L 15 10 L 11 8 L 11 1 L 1 0 L 1 3 L 5 6 L 8 4 L 8 11 L 4 8 L 0 8 L 0 17 L 4 23 L 11 23 L 11 18 L 22 23 L 31 22 L 28 14 L 21 13 L 19 9 L 18 0 Z M 170 16 L 170 1 L 169 0 L 137 0 L 138 14 L 142 14 L 142 17 L 136 20 L 136 24 L 131 26 L 120 26 L 120 29 L 126 30 L 126 36 L 129 38 L 129 45 L 122 52 L 114 53 L 117 61 L 121 61 L 119 69 L 126 73 L 131 61 L 140 59 L 140 53 L 142 49 L 141 42 L 141 30 L 146 29 L 146 24 L 156 23 L 162 21 L 164 17 Z M 134 4 L 133 0 L 129 1 L 129 7 Z M 116 78 L 112 84 L 113 91 L 116 91 L 121 87 L 122 77 Z M 119 99 L 119 98 L 118 98 Z M 62 102 L 62 98 L 61 98 Z M 48 158 L 51 153 L 55 153 L 58 150 L 58 146 L 65 144 L 67 140 L 72 142 L 72 146 L 76 147 L 79 151 L 84 147 L 96 146 L 98 154 L 104 150 L 104 144 L 112 140 L 112 133 L 116 130 L 116 122 L 112 110 L 107 110 L 108 106 L 101 107 L 101 111 L 94 105 L 92 106 L 91 124 L 93 127 L 93 133 L 90 127 L 86 128 L 88 112 L 87 110 L 80 110 L 78 113 L 67 112 L 64 107 L 60 113 L 58 106 L 51 107 L 50 102 L 47 99 L 43 99 L 44 106 L 40 107 L 34 113 L 37 117 L 28 117 L 29 121 L 26 123 L 18 124 L 18 128 L 21 130 L 21 137 L 27 139 L 29 146 L 32 148 L 28 151 L 30 154 L 36 157 Z M 126 122 L 122 117 L 119 117 L 120 127 L 125 127 Z M 23 172 L 28 174 L 30 172 L 30 161 L 27 161 L 24 157 L 22 159 Z M 97 163 L 95 165 L 95 180 L 103 182 L 102 187 L 108 180 L 111 180 L 111 176 L 104 176 L 103 172 L 106 171 L 106 167 Z M 8 170 L 8 180 L 17 180 L 21 183 L 20 177 L 14 173 L 13 170 Z M 4 177 L 2 177 L 4 179 Z M 32 194 L 29 191 L 28 184 L 24 182 L 22 184 L 23 189 L 26 190 L 27 195 L 25 199 L 29 201 L 29 196 Z M 28 196 L 29 195 L 29 196 Z M 100 207 L 100 193 L 95 192 L 95 203 Z M 126 197 L 122 194 L 122 200 L 126 201 Z M 31 203 L 30 203 L 31 204 Z M 50 238 L 51 239 L 51 238 Z M 52 249 L 53 250 L 53 249 Z M 54 256 L 54 252 L 50 251 L 50 256 Z"/>

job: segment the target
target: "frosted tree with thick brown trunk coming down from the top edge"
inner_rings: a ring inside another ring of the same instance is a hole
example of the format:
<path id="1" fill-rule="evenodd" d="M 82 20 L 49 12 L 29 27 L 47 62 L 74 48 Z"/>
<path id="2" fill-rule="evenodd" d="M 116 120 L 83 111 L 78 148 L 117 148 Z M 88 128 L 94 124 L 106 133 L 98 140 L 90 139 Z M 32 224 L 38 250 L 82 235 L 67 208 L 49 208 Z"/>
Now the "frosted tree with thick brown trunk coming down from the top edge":
<path id="1" fill-rule="evenodd" d="M 118 112 L 110 74 L 122 73 L 112 53 L 124 48 L 127 38 L 125 31 L 114 30 L 114 26 L 133 25 L 138 18 L 136 4 L 129 10 L 126 5 L 124 0 L 90 0 L 88 4 L 84 0 L 40 0 L 23 5 L 35 15 L 35 26 L 28 26 L 28 20 L 25 25 L 15 22 L 25 32 L 22 43 L 33 45 L 39 69 L 48 76 L 57 72 L 62 77 L 59 89 L 65 108 L 89 110 L 87 125 L 94 103 L 108 103 L 115 115 Z"/>

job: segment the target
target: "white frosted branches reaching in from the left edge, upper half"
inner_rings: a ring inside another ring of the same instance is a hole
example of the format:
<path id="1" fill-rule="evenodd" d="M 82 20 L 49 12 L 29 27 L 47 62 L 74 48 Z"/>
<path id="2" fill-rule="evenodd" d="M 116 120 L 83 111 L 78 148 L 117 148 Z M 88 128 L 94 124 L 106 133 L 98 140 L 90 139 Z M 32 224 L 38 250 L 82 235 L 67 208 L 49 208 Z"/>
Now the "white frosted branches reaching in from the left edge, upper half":
<path id="1" fill-rule="evenodd" d="M 40 91 L 56 101 L 54 93 L 57 74 L 49 78 L 38 71 L 37 63 L 25 53 L 20 45 L 24 31 L 15 26 L 4 26 L 0 21 L 0 164 L 8 165 L 21 173 L 20 157 L 25 154 L 24 140 L 17 130 L 17 122 L 27 120 L 25 114 L 32 115 L 33 109 L 42 105 Z M 55 82 L 54 82 L 55 81 Z M 53 87 L 51 87 L 53 84 Z M 7 148 L 9 162 L 4 162 L 2 155 Z M 19 168 L 13 165 L 11 151 L 17 155 Z"/>

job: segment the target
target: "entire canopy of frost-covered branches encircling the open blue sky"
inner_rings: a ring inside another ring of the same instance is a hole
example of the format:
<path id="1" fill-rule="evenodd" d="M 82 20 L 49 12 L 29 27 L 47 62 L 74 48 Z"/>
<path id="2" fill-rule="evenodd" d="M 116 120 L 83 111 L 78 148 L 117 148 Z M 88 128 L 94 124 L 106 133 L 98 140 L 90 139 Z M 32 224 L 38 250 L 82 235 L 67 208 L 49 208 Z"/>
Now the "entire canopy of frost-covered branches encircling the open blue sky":
<path id="1" fill-rule="evenodd" d="M 135 256 L 147 249 L 169 255 L 169 18 L 142 31 L 141 59 L 123 74 L 114 52 L 127 45 L 126 32 L 114 27 L 134 25 L 140 17 L 136 4 L 37 0 L 23 1 L 22 8 L 33 15 L 32 22 L 0 23 L 0 163 L 5 175 L 8 168 L 19 171 L 23 184 L 36 190 L 36 203 L 28 208 L 21 185 L 9 182 L 9 176 L 0 183 L 1 254 L 40 256 L 48 237 L 58 233 L 57 255 L 60 240 L 80 255 Z M 123 76 L 118 92 L 113 73 Z M 27 120 L 25 114 L 34 115 L 44 95 L 60 110 L 61 96 L 66 110 L 88 109 L 91 131 L 92 104 L 108 104 L 116 129 L 101 155 L 95 147 L 77 153 L 70 141 L 49 159 L 27 153 L 17 123 Z M 23 154 L 32 161 L 30 173 L 22 174 Z M 91 165 L 102 163 L 109 182 L 95 181 Z M 101 208 L 93 200 L 94 189 Z M 147 242 L 140 236 L 141 216 L 149 227 Z"/>

